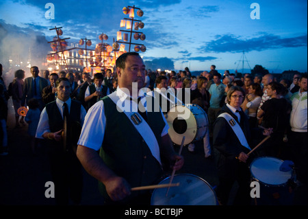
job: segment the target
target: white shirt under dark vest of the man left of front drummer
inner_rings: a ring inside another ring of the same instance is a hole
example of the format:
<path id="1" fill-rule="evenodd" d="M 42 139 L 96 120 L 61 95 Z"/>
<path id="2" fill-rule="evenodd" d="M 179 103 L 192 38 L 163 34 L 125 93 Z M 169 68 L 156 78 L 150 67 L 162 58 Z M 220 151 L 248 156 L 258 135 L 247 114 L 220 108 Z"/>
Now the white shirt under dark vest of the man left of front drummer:
<path id="1" fill-rule="evenodd" d="M 70 98 L 66 100 L 66 104 L 68 106 L 68 112 L 70 112 L 70 104 L 72 100 Z M 55 100 L 55 103 L 57 104 L 57 108 L 59 108 L 59 111 L 62 115 L 63 118 L 63 111 L 64 111 L 64 102 L 57 98 Z M 81 105 L 81 110 L 80 110 L 80 121 L 81 121 L 81 126 L 84 124 L 84 119 L 86 117 L 86 110 L 84 106 Z M 38 122 L 38 128 L 36 129 L 36 138 L 38 139 L 44 139 L 42 135 L 44 135 L 45 132 L 50 132 L 49 128 L 49 118 L 47 115 L 46 107 L 42 110 L 42 113 L 40 113 L 40 121 Z"/>

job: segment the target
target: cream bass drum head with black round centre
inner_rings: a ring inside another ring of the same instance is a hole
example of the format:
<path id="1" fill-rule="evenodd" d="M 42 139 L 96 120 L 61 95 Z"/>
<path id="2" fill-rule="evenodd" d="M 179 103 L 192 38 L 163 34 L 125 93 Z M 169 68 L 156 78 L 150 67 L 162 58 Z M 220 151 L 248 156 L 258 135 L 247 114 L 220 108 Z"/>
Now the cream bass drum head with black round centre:
<path id="1" fill-rule="evenodd" d="M 167 113 L 166 120 L 169 125 L 168 134 L 173 143 L 180 146 L 185 136 L 184 145 L 188 145 L 196 137 L 196 119 L 186 106 L 172 106 Z"/>

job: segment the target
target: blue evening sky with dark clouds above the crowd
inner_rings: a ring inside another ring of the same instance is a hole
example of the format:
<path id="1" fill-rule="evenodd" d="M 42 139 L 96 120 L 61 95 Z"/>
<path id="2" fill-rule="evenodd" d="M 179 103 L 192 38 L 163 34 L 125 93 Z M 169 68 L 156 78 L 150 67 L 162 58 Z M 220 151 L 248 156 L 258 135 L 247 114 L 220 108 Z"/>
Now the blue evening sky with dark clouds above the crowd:
<path id="1" fill-rule="evenodd" d="M 55 19 L 45 17 L 48 2 L 55 7 Z M 254 2 L 259 4 L 259 19 L 251 17 L 257 10 L 251 8 Z M 216 65 L 232 71 L 245 51 L 252 68 L 307 71 L 307 1 L 302 0 L 4 0 L 0 23 L 42 32 L 47 39 L 55 35 L 50 28 L 61 26 L 63 36 L 73 43 L 85 37 L 99 43 L 99 34 L 106 33 L 107 43 L 112 43 L 120 20 L 128 17 L 122 12 L 127 5 L 144 11 L 141 18 L 136 16 L 144 22 L 144 60 L 166 57 L 176 70 L 188 66 L 201 71 Z"/>

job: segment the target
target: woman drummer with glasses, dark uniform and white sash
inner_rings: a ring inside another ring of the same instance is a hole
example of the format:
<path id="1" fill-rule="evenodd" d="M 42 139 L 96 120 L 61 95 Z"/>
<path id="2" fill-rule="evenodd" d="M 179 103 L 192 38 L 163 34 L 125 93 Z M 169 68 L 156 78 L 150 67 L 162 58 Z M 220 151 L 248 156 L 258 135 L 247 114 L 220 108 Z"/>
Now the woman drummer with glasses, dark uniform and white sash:
<path id="1" fill-rule="evenodd" d="M 218 154 L 218 200 L 222 205 L 227 205 L 229 193 L 235 181 L 239 188 L 235 196 L 235 205 L 249 205 L 250 197 L 250 172 L 248 163 L 252 157 L 248 157 L 251 150 L 251 132 L 248 117 L 240 107 L 244 101 L 245 93 L 241 87 L 231 87 L 227 93 L 227 104 L 222 106 L 218 118 L 214 124 L 213 146 Z M 229 115 L 229 117 L 228 117 Z M 240 128 L 236 130 L 233 127 Z M 270 135 L 269 130 L 264 135 Z M 243 143 L 245 142 L 246 143 Z M 243 146 L 244 145 L 244 146 Z"/>

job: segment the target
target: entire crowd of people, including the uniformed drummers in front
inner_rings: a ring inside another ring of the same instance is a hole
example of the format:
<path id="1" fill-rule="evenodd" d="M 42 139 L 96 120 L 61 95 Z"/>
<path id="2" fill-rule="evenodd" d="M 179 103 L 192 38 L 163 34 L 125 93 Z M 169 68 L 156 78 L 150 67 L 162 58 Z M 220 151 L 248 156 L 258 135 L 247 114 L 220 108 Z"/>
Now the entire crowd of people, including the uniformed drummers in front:
<path id="1" fill-rule="evenodd" d="M 0 70 L 2 76 L 2 65 Z M 138 106 L 140 102 L 144 105 L 145 98 L 139 100 L 133 95 L 133 82 L 138 83 L 138 91 L 148 88 L 161 95 L 162 89 L 189 91 L 190 100 L 182 98 L 181 102 L 197 104 L 205 111 L 209 121 L 203 138 L 205 158 L 214 157 L 214 150 L 218 152 L 214 159 L 218 159 L 220 185 L 216 193 L 221 205 L 227 204 L 234 181 L 240 185 L 235 204 L 248 203 L 248 167 L 254 157 L 294 161 L 296 183 L 307 185 L 307 75 L 296 74 L 290 83 L 283 78 L 277 81 L 270 73 L 246 73 L 240 77 L 229 71 L 221 74 L 214 65 L 200 76 L 192 76 L 188 67 L 179 72 L 151 71 L 136 53 L 120 56 L 114 71 L 49 74 L 45 70 L 39 76 L 40 70 L 34 66 L 30 72 L 31 77 L 25 78 L 25 71 L 18 69 L 12 82 L 0 78 L 0 153 L 9 152 L 6 119 L 8 99 L 12 98 L 15 128 L 29 124 L 31 151 L 36 153 L 37 139 L 49 142 L 51 172 L 55 183 L 62 185 L 56 192 L 57 204 L 66 205 L 68 198 L 80 203 L 81 165 L 99 180 L 107 205 L 149 203 L 149 192 L 131 192 L 131 187 L 157 184 L 163 176 L 162 163 L 168 163 L 173 170 L 183 165 L 183 157 L 172 148 L 164 116 L 176 103 L 169 101 L 166 110 L 158 113 L 150 113 L 145 105 L 144 116 Z M 125 93 L 124 88 L 130 93 Z M 185 97 L 184 93 L 181 97 Z M 131 102 L 137 115 L 116 111 L 119 101 Z M 22 106 L 28 106 L 25 117 L 18 112 Z M 226 113 L 239 125 L 246 143 L 233 130 L 230 119 L 223 116 Z M 71 133 L 64 134 L 64 126 Z M 150 135 L 146 130 L 153 132 Z M 248 156 L 266 135 L 270 139 Z M 188 150 L 194 152 L 193 143 Z M 68 189 L 75 191 L 70 197 Z"/>

